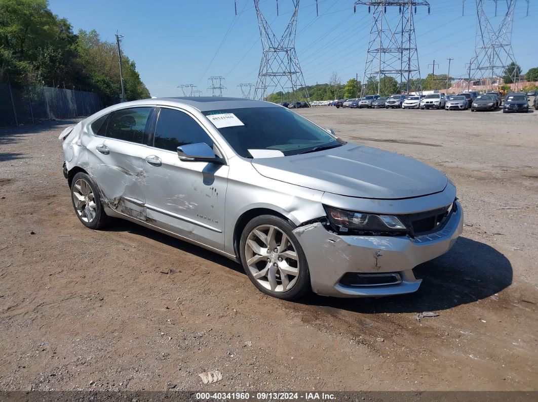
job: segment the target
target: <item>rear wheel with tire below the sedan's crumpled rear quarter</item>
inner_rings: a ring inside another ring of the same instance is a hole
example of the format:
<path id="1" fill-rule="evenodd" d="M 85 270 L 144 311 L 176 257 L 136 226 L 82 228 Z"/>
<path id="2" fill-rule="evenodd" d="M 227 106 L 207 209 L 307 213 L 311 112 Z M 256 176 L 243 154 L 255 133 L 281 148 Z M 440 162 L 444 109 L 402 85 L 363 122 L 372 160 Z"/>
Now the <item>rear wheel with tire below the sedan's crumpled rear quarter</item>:
<path id="1" fill-rule="evenodd" d="M 87 228 L 101 229 L 109 223 L 109 217 L 101 204 L 97 185 L 88 174 L 79 172 L 73 177 L 71 201 L 75 215 Z M 91 207 L 89 203 L 93 203 L 94 207 Z"/>

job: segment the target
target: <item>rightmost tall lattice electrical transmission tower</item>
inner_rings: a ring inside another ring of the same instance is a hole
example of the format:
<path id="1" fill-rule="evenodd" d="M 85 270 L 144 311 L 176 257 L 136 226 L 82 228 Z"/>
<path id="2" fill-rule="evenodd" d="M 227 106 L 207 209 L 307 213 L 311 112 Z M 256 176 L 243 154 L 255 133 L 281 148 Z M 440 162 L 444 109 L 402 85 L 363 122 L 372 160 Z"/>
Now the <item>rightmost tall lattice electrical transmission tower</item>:
<path id="1" fill-rule="evenodd" d="M 529 14 L 529 0 L 527 2 L 527 16 Z M 495 5 L 494 16 L 491 13 Z M 493 17 L 497 17 L 498 0 L 476 0 L 476 47 L 475 57 L 472 64 L 475 65 L 475 78 L 485 79 L 487 89 L 493 89 L 493 81 L 496 77 L 505 76 L 509 72 L 510 79 L 519 89 L 519 70 L 513 68 L 506 71 L 508 65 L 514 63 L 515 58 L 512 50 L 512 28 L 514 24 L 514 10 L 517 0 L 506 0 L 506 14 L 499 25 L 494 25 Z M 504 2 L 502 2 L 504 3 Z M 490 12 L 488 12 L 489 5 Z"/>

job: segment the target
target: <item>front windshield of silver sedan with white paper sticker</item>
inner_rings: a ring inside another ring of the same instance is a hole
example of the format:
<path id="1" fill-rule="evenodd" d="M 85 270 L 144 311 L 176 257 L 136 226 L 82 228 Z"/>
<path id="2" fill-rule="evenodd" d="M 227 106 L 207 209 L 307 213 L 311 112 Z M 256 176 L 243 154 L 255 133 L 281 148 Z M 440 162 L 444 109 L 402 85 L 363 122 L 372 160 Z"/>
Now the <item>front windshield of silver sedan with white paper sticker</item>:
<path id="1" fill-rule="evenodd" d="M 230 147 L 244 158 L 251 150 L 281 151 L 297 155 L 317 148 L 334 148 L 345 144 L 327 131 L 281 107 L 245 107 L 203 112 L 211 116 L 226 114 L 229 121 L 218 122 L 218 131 Z"/>

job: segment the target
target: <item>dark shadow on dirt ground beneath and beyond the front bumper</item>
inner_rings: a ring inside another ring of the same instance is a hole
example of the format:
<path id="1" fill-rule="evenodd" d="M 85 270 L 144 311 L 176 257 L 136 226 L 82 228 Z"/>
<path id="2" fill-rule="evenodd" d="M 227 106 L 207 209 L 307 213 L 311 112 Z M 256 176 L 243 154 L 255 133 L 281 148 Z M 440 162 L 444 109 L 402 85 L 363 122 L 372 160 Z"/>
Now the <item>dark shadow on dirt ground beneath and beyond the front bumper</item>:
<path id="1" fill-rule="evenodd" d="M 309 296 L 301 303 L 360 313 L 419 313 L 468 304 L 499 293 L 512 283 L 512 264 L 495 248 L 460 237 L 447 253 L 417 266 L 422 284 L 409 295 L 377 299 Z"/>

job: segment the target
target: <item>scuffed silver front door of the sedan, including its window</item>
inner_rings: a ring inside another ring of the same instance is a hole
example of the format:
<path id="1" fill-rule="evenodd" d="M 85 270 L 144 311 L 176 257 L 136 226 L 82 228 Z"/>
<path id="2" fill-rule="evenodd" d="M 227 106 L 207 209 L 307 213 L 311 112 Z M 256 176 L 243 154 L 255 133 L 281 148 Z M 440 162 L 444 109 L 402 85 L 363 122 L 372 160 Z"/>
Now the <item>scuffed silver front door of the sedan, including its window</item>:
<path id="1" fill-rule="evenodd" d="M 222 250 L 228 165 L 185 162 L 181 145 L 206 143 L 218 156 L 213 138 L 195 116 L 161 107 L 143 170 L 147 217 L 154 225 Z"/>

